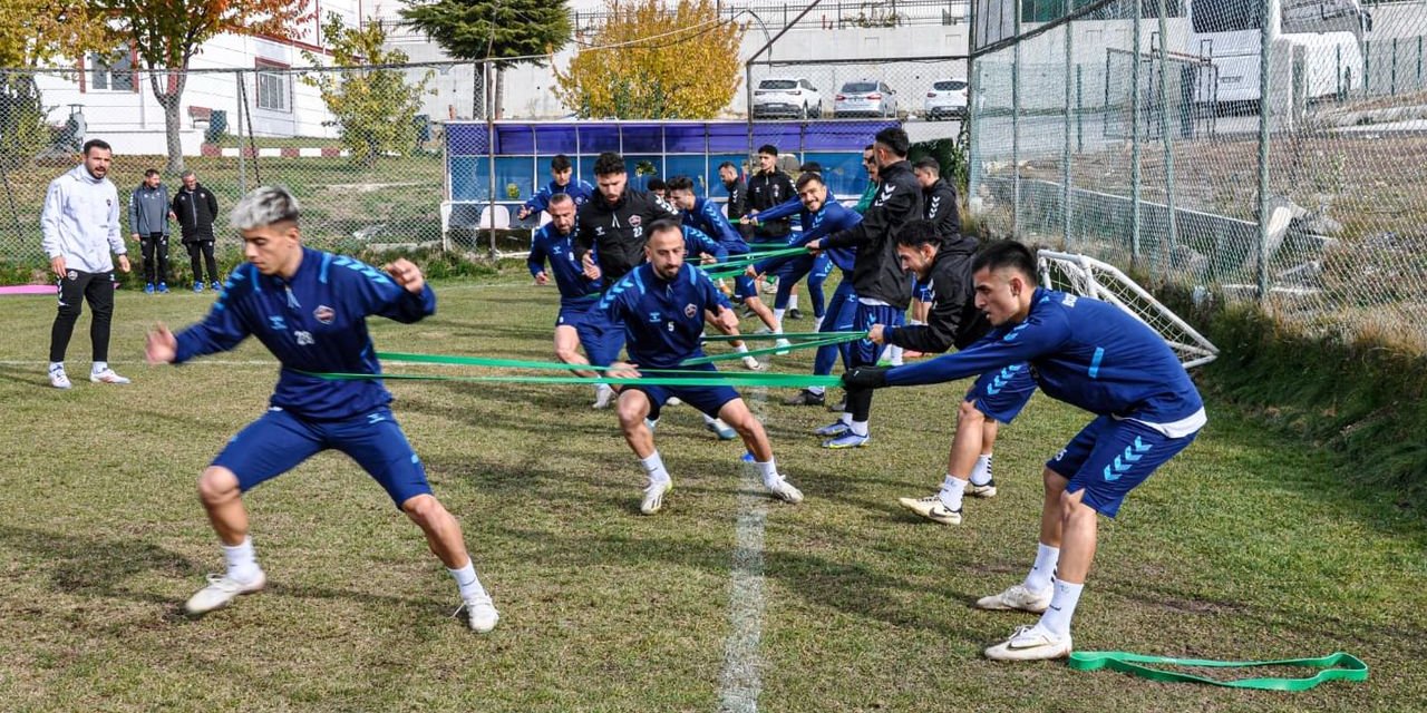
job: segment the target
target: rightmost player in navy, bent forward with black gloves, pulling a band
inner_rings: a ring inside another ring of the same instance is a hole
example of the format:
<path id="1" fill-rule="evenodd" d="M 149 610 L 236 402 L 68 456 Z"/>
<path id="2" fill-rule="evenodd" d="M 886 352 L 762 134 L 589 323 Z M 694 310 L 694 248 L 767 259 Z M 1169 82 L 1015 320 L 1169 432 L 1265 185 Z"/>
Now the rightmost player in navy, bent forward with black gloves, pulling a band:
<path id="1" fill-rule="evenodd" d="M 965 351 L 922 364 L 843 375 L 849 386 L 939 384 L 1029 362 L 1046 395 L 1096 414 L 1042 475 L 1040 546 L 1025 582 L 982 597 L 979 609 L 1040 612 L 1033 626 L 986 649 L 997 660 L 1070 655 L 1070 619 L 1095 558 L 1096 515 L 1120 502 L 1189 446 L 1207 422 L 1174 352 L 1117 307 L 1036 287 L 1036 258 L 999 242 L 972 262 L 976 307 L 992 331 Z"/>

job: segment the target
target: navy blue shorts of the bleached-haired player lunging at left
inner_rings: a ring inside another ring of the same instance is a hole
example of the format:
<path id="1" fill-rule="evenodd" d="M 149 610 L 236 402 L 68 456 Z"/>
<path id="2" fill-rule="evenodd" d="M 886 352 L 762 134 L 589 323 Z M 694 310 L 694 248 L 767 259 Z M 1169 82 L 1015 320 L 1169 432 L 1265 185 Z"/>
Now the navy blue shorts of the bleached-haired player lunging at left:
<path id="1" fill-rule="evenodd" d="M 248 492 L 328 448 L 357 461 L 397 508 L 417 495 L 431 495 L 421 459 L 385 406 L 347 421 L 304 421 L 271 408 L 238 431 L 213 465 L 233 471 L 238 489 Z"/>

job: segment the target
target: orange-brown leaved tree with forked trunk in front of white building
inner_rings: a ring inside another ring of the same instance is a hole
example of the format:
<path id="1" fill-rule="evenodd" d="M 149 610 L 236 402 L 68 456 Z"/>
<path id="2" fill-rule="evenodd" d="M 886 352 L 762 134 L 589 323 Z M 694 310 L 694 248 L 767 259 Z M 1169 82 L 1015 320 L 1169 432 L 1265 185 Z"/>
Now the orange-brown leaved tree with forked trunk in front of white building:
<path id="1" fill-rule="evenodd" d="M 6 0 L 10 1 L 10 0 Z M 291 37 L 297 24 L 313 17 L 308 0 L 91 0 L 128 40 L 150 70 L 148 86 L 164 108 L 168 171 L 183 170 L 178 108 L 188 83 L 188 60 L 203 43 L 228 33 Z"/>

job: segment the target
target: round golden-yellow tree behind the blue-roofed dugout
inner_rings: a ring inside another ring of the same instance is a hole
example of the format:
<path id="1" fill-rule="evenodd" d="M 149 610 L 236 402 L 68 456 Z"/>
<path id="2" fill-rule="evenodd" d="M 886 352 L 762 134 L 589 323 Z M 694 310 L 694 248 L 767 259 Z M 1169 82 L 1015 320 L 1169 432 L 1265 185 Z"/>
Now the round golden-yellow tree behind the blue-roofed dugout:
<path id="1" fill-rule="evenodd" d="M 712 118 L 741 83 L 748 24 L 722 20 L 712 0 L 619 3 L 565 71 L 555 96 L 581 117 Z"/>

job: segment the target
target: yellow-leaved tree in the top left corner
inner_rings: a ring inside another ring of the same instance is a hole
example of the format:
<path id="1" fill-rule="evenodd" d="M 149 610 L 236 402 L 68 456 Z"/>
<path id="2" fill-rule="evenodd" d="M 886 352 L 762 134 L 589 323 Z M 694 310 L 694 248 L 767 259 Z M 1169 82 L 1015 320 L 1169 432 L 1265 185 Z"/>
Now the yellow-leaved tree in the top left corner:
<path id="1" fill-rule="evenodd" d="M 37 67 L 108 48 L 108 29 L 84 0 L 4 0 L 0 6 L 0 67 Z M 0 70 L 0 170 L 11 170 L 50 143 L 47 111 L 34 74 Z"/>

